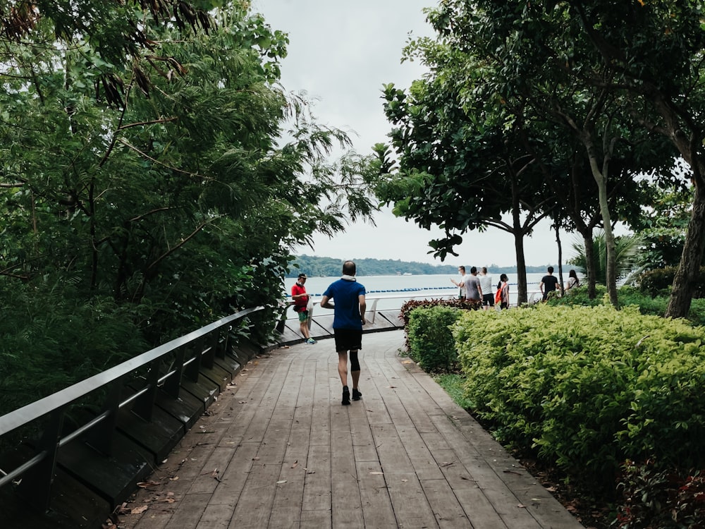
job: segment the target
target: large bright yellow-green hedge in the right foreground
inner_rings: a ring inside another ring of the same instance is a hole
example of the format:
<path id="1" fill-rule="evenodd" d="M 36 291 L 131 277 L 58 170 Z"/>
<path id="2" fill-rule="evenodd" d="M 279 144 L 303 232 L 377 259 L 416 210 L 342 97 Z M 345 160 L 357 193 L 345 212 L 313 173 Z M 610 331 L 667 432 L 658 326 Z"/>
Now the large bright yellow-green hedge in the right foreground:
<path id="1" fill-rule="evenodd" d="M 700 466 L 704 329 L 597 307 L 462 312 L 467 398 L 501 442 L 568 471 L 615 476 L 626 458 Z"/>

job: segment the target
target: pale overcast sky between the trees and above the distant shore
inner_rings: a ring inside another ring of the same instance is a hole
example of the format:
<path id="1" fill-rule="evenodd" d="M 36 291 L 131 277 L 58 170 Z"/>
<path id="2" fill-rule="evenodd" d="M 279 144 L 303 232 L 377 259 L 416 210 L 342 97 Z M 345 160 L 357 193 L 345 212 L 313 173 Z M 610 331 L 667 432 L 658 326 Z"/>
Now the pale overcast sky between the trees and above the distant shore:
<path id="1" fill-rule="evenodd" d="M 321 123 L 350 133 L 354 149 L 371 154 L 372 145 L 387 142 L 391 126 L 384 117 L 381 87 L 394 83 L 406 89 L 424 73 L 418 63 L 400 63 L 409 38 L 431 35 L 422 9 L 434 0 L 254 0 L 274 30 L 288 32 L 288 56 L 282 65 L 283 87 L 304 90 L 315 99 L 314 114 Z M 296 253 L 344 259 L 400 259 L 433 262 L 428 242 L 441 230 L 420 229 L 412 221 L 391 212 L 376 215 L 377 226 L 354 224 L 334 239 L 314 238 L 314 248 Z M 573 236 L 563 237 L 563 261 L 572 255 Z M 513 266 L 514 238 L 498 229 L 474 231 L 463 236 L 445 264 Z M 539 224 L 525 239 L 527 265 L 558 261 L 555 235 L 550 224 Z"/>

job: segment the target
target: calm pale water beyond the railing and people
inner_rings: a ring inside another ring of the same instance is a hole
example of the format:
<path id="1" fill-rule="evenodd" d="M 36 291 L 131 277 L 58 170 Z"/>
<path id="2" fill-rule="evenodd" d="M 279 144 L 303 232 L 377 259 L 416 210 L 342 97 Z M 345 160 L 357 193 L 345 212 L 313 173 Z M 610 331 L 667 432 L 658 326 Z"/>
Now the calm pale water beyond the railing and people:
<path id="1" fill-rule="evenodd" d="M 517 303 L 517 274 L 507 274 L 509 277 L 510 302 Z M 539 282 L 545 274 L 527 274 L 528 291 L 531 296 L 532 291 L 539 290 Z M 499 281 L 499 274 L 491 274 L 493 288 Z M 404 301 L 409 298 L 436 298 L 458 296 L 458 287 L 450 282 L 450 278 L 458 281 L 460 276 L 450 276 L 445 274 L 436 275 L 412 275 L 412 276 L 359 276 L 357 281 L 364 285 L 367 291 L 367 308 L 372 309 L 372 303 L 377 300 L 376 308 L 392 309 L 399 308 Z M 314 300 L 320 299 L 329 284 L 339 279 L 338 277 L 309 277 L 306 280 L 306 291 Z M 291 294 L 291 287 L 295 284 L 295 278 L 285 279 L 287 296 Z M 494 291 L 493 291 L 494 293 Z M 316 306 L 315 313 L 325 314 L 330 310 Z M 295 312 L 290 310 L 288 317 L 295 317 Z"/>

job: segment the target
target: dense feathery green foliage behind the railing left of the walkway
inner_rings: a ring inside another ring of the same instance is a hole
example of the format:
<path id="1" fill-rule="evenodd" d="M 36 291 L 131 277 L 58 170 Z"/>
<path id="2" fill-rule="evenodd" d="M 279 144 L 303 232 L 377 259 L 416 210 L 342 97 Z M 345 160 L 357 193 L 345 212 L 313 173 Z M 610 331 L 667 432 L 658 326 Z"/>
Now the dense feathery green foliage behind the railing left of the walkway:
<path id="1" fill-rule="evenodd" d="M 241 329 L 264 343 L 291 248 L 375 209 L 247 6 L 0 6 L 4 406 L 240 308 L 266 307 Z"/>

